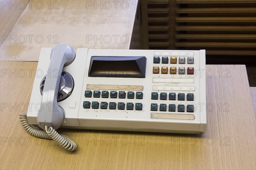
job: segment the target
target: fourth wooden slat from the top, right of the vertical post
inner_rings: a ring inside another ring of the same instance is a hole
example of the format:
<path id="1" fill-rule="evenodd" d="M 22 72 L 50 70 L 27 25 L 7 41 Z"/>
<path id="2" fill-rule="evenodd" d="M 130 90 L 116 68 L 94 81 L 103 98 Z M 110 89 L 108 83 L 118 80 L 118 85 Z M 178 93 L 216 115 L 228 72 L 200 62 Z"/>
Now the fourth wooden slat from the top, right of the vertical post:
<path id="1" fill-rule="evenodd" d="M 176 31 L 256 31 L 256 26 L 176 26 Z"/>

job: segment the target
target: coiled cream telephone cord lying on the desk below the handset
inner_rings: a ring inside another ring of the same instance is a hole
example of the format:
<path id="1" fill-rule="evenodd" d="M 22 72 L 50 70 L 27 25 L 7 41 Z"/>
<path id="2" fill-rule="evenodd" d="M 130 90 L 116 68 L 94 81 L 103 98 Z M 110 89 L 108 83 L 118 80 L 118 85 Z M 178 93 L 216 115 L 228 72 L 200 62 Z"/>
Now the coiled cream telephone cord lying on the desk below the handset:
<path id="1" fill-rule="evenodd" d="M 19 116 L 21 125 L 30 135 L 37 138 L 54 140 L 59 145 L 70 151 L 76 150 L 76 142 L 73 141 L 73 139 L 71 139 L 70 137 L 59 134 L 55 129 L 53 129 L 52 127 L 48 127 L 47 125 L 44 126 L 45 131 L 37 130 L 29 124 L 26 115 L 20 114 Z"/>

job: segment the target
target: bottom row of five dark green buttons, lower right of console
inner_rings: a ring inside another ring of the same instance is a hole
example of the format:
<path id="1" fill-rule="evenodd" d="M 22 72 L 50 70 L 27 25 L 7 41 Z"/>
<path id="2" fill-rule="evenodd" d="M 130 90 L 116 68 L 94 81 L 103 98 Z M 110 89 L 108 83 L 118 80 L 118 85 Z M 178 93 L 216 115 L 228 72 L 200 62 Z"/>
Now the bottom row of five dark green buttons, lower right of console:
<path id="1" fill-rule="evenodd" d="M 157 103 L 151 103 L 151 111 L 157 111 L 158 105 Z M 166 111 L 167 105 L 166 104 L 160 104 L 159 111 Z M 175 104 L 169 104 L 168 111 L 175 112 L 176 111 L 176 105 Z M 177 106 L 178 112 L 185 112 L 185 105 L 178 105 Z M 186 107 L 187 112 L 194 112 L 194 105 L 187 105 Z"/>

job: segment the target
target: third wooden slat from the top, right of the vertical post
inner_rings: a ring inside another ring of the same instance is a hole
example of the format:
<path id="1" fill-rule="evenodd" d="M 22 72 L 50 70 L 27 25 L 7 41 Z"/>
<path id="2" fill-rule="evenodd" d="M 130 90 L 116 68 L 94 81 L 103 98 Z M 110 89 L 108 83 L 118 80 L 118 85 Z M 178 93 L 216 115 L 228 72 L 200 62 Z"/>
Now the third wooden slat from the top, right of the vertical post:
<path id="1" fill-rule="evenodd" d="M 176 22 L 182 23 L 248 23 L 256 22 L 256 17 L 176 17 Z"/>

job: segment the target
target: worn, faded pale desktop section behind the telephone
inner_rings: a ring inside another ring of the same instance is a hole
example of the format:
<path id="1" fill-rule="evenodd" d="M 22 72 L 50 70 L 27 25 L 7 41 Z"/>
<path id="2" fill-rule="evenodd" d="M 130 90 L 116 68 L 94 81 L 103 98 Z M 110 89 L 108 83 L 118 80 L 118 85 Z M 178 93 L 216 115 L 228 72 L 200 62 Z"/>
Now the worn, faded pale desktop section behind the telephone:
<path id="1" fill-rule="evenodd" d="M 39 1 L 38 1 L 39 2 Z M 28 3 L 9 35 L 1 35 L 1 60 L 38 61 L 42 47 L 128 49 L 136 14 L 133 1 Z"/>

